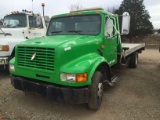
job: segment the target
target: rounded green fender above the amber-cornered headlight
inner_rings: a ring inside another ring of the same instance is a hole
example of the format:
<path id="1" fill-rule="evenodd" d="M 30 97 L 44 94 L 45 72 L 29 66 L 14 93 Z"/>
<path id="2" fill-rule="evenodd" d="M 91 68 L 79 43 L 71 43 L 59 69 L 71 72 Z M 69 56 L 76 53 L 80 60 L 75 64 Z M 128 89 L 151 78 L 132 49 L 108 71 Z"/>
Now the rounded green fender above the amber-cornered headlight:
<path id="1" fill-rule="evenodd" d="M 108 63 L 107 60 L 98 53 L 91 53 L 63 65 L 60 68 L 60 72 L 70 74 L 88 73 L 88 81 L 84 84 L 91 85 L 91 78 L 95 70 L 104 62 Z"/>

